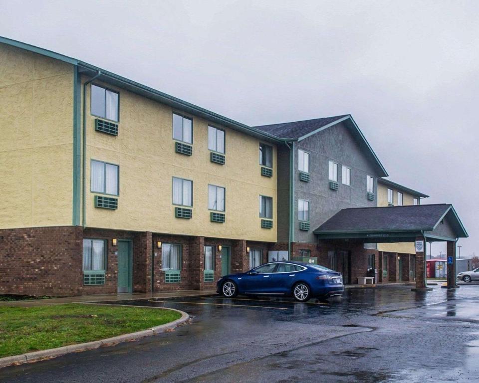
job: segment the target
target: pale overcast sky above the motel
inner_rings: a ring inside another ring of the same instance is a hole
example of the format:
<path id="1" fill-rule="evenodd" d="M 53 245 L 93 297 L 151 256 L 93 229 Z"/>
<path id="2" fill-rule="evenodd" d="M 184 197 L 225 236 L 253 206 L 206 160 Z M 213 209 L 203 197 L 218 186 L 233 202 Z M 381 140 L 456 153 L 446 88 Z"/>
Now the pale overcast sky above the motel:
<path id="1" fill-rule="evenodd" d="M 249 125 L 351 114 L 479 255 L 479 1 L 6 1 L 0 35 Z M 445 246 L 433 245 L 433 254 Z M 429 253 L 429 246 L 428 246 Z"/>

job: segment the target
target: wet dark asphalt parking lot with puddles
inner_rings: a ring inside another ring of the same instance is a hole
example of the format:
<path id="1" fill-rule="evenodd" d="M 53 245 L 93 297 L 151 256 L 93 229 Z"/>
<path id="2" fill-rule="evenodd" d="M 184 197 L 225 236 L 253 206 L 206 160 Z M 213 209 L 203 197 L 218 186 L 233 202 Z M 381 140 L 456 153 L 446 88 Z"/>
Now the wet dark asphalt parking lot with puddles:
<path id="1" fill-rule="evenodd" d="M 220 296 L 119 301 L 191 323 L 0 370 L 0 382 L 479 382 L 479 286 L 346 290 L 329 304 Z"/>

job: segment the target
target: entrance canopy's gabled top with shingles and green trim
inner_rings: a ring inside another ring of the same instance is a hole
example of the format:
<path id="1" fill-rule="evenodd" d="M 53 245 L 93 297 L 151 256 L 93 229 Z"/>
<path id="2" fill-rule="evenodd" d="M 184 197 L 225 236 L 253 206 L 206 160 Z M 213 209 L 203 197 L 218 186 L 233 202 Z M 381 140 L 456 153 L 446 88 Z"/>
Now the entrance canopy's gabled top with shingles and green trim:
<path id="1" fill-rule="evenodd" d="M 451 204 L 342 209 L 314 233 L 318 239 L 358 239 L 365 243 L 456 241 L 468 233 Z"/>

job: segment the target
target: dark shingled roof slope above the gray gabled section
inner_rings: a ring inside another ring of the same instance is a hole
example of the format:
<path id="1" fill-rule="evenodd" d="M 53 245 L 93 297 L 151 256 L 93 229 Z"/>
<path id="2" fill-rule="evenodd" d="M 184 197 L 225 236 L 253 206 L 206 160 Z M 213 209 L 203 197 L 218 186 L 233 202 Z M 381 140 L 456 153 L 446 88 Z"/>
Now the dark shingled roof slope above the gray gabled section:
<path id="1" fill-rule="evenodd" d="M 265 133 L 272 134 L 280 138 L 299 138 L 308 133 L 322 128 L 328 124 L 331 124 L 344 117 L 348 117 L 349 114 L 334 117 L 315 118 L 313 120 L 283 122 L 281 124 L 272 125 L 260 125 L 253 128 L 262 130 Z"/>

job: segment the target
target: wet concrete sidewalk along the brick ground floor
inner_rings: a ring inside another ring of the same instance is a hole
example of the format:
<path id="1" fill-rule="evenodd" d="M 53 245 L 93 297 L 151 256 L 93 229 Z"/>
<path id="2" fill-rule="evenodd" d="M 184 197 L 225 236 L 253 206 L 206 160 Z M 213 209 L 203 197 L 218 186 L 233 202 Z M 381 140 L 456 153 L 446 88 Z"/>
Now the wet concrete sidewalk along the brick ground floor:
<path id="1" fill-rule="evenodd" d="M 103 302 L 103 301 L 126 301 L 131 299 L 198 297 L 202 295 L 214 295 L 214 294 L 216 294 L 216 290 L 181 290 L 181 291 L 162 291 L 158 293 L 119 293 L 119 294 L 80 295 L 76 297 L 0 302 L 0 307 L 34 307 L 34 306 L 44 306 L 44 305 L 61 305 L 64 303 L 72 303 L 72 302 L 90 303 L 90 302 Z"/>

